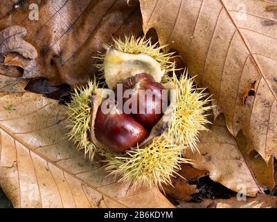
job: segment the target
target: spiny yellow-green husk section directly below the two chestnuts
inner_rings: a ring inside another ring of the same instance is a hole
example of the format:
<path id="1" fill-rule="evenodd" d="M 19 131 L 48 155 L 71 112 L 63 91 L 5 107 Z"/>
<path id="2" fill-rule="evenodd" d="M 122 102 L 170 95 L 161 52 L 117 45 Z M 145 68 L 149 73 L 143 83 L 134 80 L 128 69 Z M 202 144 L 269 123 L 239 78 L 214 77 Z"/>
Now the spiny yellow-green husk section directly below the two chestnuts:
<path id="1" fill-rule="evenodd" d="M 161 187 L 171 185 L 171 177 L 181 169 L 182 163 L 190 163 L 182 156 L 186 147 L 171 144 L 161 135 L 149 145 L 127 151 L 124 156 L 109 155 L 106 170 L 109 175 L 130 182 L 134 187 L 141 184 Z"/>

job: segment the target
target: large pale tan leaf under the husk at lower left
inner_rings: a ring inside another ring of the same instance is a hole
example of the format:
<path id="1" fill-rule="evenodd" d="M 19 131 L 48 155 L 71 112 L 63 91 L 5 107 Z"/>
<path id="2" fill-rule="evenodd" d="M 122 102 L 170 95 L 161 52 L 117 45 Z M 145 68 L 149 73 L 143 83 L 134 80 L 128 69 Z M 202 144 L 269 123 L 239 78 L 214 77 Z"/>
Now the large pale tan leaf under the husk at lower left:
<path id="1" fill-rule="evenodd" d="M 0 94 L 0 185 L 15 207 L 173 207 L 84 159 L 66 138 L 65 112 L 42 95 Z"/>

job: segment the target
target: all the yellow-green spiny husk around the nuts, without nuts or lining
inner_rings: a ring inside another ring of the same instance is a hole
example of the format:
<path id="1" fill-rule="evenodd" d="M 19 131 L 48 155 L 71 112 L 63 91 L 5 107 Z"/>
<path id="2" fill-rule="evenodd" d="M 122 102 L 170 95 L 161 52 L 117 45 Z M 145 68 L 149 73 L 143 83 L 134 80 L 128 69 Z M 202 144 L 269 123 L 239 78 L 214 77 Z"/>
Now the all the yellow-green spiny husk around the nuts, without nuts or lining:
<path id="1" fill-rule="evenodd" d="M 109 46 L 105 46 L 107 49 Z M 163 74 L 172 72 L 172 77 L 163 76 L 163 83 L 173 83 L 176 89 L 176 103 L 174 112 L 168 121 L 168 128 L 158 137 L 154 137 L 150 144 L 127 151 L 123 155 L 113 153 L 109 149 L 98 148 L 89 140 L 91 121 L 91 105 L 89 95 L 93 94 L 98 85 L 89 83 L 88 87 L 75 89 L 73 99 L 69 103 L 69 137 L 79 149 L 92 159 L 97 153 L 105 157 L 106 170 L 110 175 L 118 178 L 119 182 L 131 182 L 133 185 L 146 184 L 161 187 L 162 184 L 171 184 L 170 178 L 181 168 L 181 163 L 190 163 L 183 157 L 184 149 L 197 149 L 197 135 L 200 130 L 206 130 L 206 111 L 209 98 L 204 94 L 204 89 L 197 89 L 193 85 L 193 78 L 189 78 L 187 72 L 177 78 L 175 75 L 175 63 L 170 62 L 173 53 L 163 54 L 162 49 L 150 40 L 134 36 L 125 37 L 125 41 L 114 40 L 114 48 L 124 53 L 142 53 L 151 56 L 161 64 Z M 103 70 L 105 56 L 98 59 L 102 62 L 98 65 Z"/>

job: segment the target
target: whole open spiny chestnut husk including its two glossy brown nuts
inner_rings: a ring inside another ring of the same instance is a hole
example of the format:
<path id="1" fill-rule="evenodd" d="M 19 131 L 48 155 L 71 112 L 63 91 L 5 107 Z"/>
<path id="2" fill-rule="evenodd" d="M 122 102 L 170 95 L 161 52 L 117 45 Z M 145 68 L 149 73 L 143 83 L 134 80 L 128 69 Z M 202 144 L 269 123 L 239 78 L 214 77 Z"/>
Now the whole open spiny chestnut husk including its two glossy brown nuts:
<path id="1" fill-rule="evenodd" d="M 70 139 L 91 159 L 101 157 L 118 182 L 170 184 L 181 163 L 190 162 L 184 151 L 197 149 L 198 132 L 206 130 L 209 98 L 195 87 L 187 71 L 177 78 L 172 54 L 162 53 L 163 48 L 143 38 L 115 40 L 98 57 L 108 88 L 89 82 L 75 89 L 69 103 Z M 169 71 L 172 77 L 166 75 Z M 130 90 L 133 95 L 123 96 L 122 104 L 118 84 L 123 94 Z M 148 89 L 155 99 L 145 99 L 140 89 Z M 136 113 L 125 112 L 128 101 L 127 107 Z M 138 112 L 140 106 L 150 112 Z"/>

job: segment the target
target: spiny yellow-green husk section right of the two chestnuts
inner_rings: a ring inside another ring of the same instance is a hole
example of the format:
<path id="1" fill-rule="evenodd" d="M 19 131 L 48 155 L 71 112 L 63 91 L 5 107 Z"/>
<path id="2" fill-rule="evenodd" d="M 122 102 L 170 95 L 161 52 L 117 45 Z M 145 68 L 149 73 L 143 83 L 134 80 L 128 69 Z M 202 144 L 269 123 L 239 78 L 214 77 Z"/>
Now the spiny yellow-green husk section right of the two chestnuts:
<path id="1" fill-rule="evenodd" d="M 177 103 L 168 123 L 168 134 L 177 145 L 187 145 L 195 151 L 199 132 L 206 130 L 206 124 L 210 123 L 206 119 L 206 113 L 211 110 L 211 96 L 204 93 L 205 89 L 194 85 L 194 80 L 188 76 L 187 70 L 180 78 L 177 78 L 173 71 L 172 77 L 163 80 L 174 83 L 176 89 Z"/>

